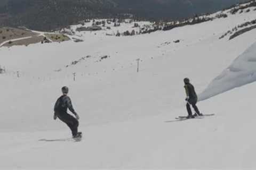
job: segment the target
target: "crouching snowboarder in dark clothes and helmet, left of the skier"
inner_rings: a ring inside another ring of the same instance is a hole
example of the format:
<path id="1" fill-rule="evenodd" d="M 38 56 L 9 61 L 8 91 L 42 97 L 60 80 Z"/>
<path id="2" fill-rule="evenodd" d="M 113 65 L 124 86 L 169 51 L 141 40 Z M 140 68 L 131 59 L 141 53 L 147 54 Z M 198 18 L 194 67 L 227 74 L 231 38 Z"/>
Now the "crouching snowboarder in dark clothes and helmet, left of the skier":
<path id="1" fill-rule="evenodd" d="M 71 99 L 67 96 L 68 87 L 62 87 L 61 91 L 63 95 L 59 97 L 55 103 L 53 118 L 56 120 L 58 117 L 62 122 L 66 123 L 72 132 L 73 138 L 82 137 L 82 132 L 78 132 L 77 130 L 79 125 L 79 116 L 71 104 Z M 69 109 L 76 118 L 68 114 L 67 109 Z"/>

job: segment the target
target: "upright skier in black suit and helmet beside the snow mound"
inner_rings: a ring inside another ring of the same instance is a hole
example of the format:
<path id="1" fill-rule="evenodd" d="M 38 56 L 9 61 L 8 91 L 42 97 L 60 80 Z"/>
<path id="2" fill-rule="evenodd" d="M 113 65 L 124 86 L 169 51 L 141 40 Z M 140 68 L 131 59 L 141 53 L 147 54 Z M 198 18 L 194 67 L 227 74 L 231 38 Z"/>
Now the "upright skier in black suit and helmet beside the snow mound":
<path id="1" fill-rule="evenodd" d="M 196 92 L 195 92 L 195 89 L 194 89 L 194 86 L 189 82 L 189 79 L 188 78 L 185 78 L 184 79 L 184 83 L 185 83 L 185 90 L 186 90 L 186 101 L 187 101 L 187 111 L 188 111 L 188 118 L 195 118 L 195 116 L 203 116 L 203 114 L 201 114 L 196 106 L 196 103 L 197 103 L 197 95 L 196 95 Z M 192 111 L 191 111 L 191 108 L 190 108 L 190 105 L 192 105 L 192 107 L 194 108 L 195 110 L 195 114 L 192 115 Z"/>

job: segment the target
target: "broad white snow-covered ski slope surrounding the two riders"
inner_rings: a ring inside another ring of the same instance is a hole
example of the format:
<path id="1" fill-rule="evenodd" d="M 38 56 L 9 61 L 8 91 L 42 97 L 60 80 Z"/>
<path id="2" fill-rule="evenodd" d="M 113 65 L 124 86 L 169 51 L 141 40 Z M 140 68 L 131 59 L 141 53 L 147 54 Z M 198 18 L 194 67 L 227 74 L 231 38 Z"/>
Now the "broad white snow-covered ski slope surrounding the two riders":
<path id="1" fill-rule="evenodd" d="M 1 47 L 0 168 L 255 168 L 255 8 L 137 36 Z M 185 77 L 214 116 L 175 121 L 187 115 Z M 61 140 L 71 134 L 53 120 L 62 86 L 81 142 Z"/>

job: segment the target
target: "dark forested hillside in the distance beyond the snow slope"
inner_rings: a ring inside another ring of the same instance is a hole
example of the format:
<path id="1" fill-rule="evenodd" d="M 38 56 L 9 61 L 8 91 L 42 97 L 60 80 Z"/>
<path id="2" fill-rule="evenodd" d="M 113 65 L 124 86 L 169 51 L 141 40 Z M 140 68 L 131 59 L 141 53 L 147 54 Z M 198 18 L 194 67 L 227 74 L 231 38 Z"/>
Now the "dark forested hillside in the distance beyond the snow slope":
<path id="1" fill-rule="evenodd" d="M 0 25 L 49 31 L 87 18 L 123 18 L 127 13 L 146 20 L 176 20 L 211 13 L 242 0 L 4 0 L 0 2 Z"/>

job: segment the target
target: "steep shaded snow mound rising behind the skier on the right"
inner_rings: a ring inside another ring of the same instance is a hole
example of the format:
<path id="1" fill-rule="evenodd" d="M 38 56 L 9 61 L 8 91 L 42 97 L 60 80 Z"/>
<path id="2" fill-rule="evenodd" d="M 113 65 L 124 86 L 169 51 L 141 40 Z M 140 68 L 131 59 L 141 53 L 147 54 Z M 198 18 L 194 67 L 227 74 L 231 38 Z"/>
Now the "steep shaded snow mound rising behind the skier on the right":
<path id="1" fill-rule="evenodd" d="M 199 95 L 206 100 L 228 90 L 256 81 L 256 43 L 247 48 L 236 60 Z"/>

